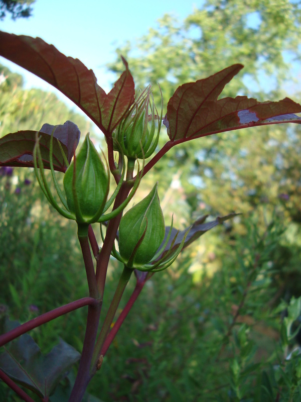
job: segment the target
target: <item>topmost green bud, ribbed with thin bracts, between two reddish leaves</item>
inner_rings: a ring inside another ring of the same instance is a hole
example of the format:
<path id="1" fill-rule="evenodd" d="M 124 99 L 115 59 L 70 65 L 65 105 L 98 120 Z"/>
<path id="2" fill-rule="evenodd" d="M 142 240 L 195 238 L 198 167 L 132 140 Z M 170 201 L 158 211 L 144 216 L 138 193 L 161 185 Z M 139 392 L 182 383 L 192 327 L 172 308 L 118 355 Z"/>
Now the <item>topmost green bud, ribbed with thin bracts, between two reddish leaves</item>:
<path id="1" fill-rule="evenodd" d="M 157 119 L 159 123 L 156 129 Z M 148 158 L 158 145 L 161 123 L 162 113 L 159 118 L 150 87 L 147 87 L 113 133 L 113 138 L 119 144 L 115 150 L 119 151 L 121 147 L 123 154 L 131 159 Z"/>

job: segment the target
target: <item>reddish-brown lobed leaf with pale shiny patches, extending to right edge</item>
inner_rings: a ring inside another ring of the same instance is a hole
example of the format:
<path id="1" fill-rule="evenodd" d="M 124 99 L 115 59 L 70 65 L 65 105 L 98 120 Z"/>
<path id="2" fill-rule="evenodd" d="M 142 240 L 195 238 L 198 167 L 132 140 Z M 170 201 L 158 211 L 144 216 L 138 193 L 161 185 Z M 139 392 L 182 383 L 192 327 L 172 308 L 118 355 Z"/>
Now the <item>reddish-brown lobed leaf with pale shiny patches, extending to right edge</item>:
<path id="1" fill-rule="evenodd" d="M 257 102 L 246 96 L 217 99 L 243 66 L 234 64 L 196 82 L 180 86 L 171 97 L 164 124 L 172 141 L 191 140 L 223 131 L 279 123 L 301 123 L 301 106 L 289 98 Z"/>

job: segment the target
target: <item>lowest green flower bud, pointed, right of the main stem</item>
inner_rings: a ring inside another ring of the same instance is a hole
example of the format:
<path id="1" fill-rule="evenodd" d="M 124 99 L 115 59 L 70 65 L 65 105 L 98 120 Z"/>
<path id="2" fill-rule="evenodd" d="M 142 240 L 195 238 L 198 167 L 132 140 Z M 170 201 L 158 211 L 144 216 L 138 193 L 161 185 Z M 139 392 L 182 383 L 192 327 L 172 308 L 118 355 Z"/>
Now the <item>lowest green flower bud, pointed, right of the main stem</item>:
<path id="1" fill-rule="evenodd" d="M 157 185 L 158 183 L 120 221 L 119 254 L 131 266 L 133 264 L 133 267 L 136 264 L 147 264 L 164 239 L 165 222 Z"/>

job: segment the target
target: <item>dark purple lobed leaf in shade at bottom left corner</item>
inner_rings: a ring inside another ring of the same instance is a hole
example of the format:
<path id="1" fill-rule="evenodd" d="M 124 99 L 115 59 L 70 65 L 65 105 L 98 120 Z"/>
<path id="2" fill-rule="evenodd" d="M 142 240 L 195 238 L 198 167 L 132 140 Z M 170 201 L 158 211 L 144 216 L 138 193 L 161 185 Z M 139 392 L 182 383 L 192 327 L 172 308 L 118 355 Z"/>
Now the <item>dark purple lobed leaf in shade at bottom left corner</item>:
<path id="1" fill-rule="evenodd" d="M 6 333 L 16 326 L 17 322 L 3 319 L 0 332 Z M 0 354 L 0 367 L 17 383 L 47 397 L 79 358 L 80 353 L 62 340 L 44 356 L 33 338 L 25 334 Z"/>

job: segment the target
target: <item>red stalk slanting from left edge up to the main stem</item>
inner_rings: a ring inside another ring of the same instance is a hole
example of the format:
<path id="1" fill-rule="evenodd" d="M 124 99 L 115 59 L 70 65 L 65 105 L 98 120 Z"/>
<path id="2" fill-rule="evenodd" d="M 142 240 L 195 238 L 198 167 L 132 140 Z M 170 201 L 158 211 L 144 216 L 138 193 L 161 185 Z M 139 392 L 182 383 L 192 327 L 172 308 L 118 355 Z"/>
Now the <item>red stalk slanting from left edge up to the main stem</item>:
<path id="1" fill-rule="evenodd" d="M 0 347 L 5 345 L 6 343 L 18 338 L 18 336 L 25 334 L 26 332 L 39 327 L 42 324 L 48 323 L 49 321 L 54 320 L 64 314 L 70 313 L 73 310 L 77 310 L 83 306 L 97 306 L 99 304 L 99 300 L 96 300 L 92 297 L 83 297 L 79 300 L 75 300 L 74 302 L 68 303 L 65 306 L 58 307 L 57 309 L 51 310 L 47 313 L 42 314 L 39 317 L 33 318 L 20 325 L 19 327 L 7 332 L 6 334 L 0 335 Z"/>

